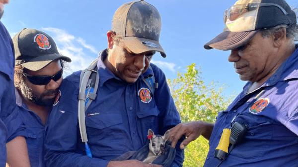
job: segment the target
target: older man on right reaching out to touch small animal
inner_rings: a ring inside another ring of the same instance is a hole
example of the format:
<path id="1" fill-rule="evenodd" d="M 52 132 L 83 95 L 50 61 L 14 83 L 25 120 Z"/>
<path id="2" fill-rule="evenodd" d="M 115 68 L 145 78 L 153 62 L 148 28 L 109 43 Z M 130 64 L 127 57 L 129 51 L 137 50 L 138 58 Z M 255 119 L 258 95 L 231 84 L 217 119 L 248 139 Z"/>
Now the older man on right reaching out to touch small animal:
<path id="1" fill-rule="evenodd" d="M 215 124 L 190 122 L 171 129 L 172 145 L 182 135 L 187 139 L 181 148 L 200 135 L 209 139 L 204 167 L 296 167 L 295 12 L 284 0 L 238 0 L 226 10 L 224 21 L 224 32 L 204 48 L 231 50 L 228 61 L 248 82 Z"/>

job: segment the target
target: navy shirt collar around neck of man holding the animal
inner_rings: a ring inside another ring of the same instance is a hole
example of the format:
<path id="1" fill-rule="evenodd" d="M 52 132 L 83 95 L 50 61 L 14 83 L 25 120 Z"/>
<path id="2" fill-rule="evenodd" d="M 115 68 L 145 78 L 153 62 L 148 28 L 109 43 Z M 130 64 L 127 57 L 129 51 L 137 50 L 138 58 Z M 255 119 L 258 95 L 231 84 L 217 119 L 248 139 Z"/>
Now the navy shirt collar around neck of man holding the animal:
<path id="1" fill-rule="evenodd" d="M 103 61 L 107 58 L 107 56 L 108 56 L 108 49 L 101 51 L 98 55 L 97 69 L 98 69 L 100 87 L 102 87 L 103 84 L 109 79 L 114 78 L 116 80 L 122 81 L 120 78 L 115 76 L 115 74 L 113 74 L 112 71 L 110 71 L 103 63 Z M 145 73 L 141 74 L 138 80 L 144 79 L 144 77 L 149 75 L 153 75 L 153 71 L 150 68 L 148 68 Z"/>

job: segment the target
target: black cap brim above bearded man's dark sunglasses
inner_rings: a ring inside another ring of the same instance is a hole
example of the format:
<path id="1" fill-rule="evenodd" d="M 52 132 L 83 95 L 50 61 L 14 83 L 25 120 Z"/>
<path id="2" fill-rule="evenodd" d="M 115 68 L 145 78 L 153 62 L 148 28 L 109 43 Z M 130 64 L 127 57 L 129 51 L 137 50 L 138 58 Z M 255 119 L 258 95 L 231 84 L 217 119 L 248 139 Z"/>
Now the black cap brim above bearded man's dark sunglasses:
<path id="1" fill-rule="evenodd" d="M 38 56 L 36 58 L 31 59 L 30 61 L 27 61 L 25 63 L 22 63 L 23 67 L 31 70 L 31 71 L 38 71 L 45 66 L 47 66 L 49 63 L 51 63 L 54 60 L 62 59 L 66 62 L 71 62 L 72 60 L 69 57 L 60 55 L 60 54 L 48 54 L 43 56 Z"/>

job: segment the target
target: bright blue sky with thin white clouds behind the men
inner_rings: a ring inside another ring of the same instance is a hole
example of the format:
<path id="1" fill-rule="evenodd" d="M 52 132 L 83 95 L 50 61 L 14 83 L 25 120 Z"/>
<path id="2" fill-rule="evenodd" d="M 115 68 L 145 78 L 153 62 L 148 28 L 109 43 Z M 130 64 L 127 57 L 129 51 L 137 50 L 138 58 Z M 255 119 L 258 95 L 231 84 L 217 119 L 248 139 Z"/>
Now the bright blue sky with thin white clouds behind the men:
<path id="1" fill-rule="evenodd" d="M 224 84 L 225 95 L 239 93 L 240 81 L 229 51 L 205 50 L 203 45 L 224 29 L 223 13 L 235 0 L 146 0 L 162 18 L 160 43 L 166 58 L 153 56 L 168 79 L 195 63 L 202 77 Z M 298 0 L 286 0 L 298 7 Z M 1 21 L 11 36 L 23 28 L 42 30 L 51 35 L 59 51 L 69 56 L 69 72 L 86 68 L 99 51 L 107 47 L 106 32 L 116 9 L 129 0 L 10 0 Z"/>

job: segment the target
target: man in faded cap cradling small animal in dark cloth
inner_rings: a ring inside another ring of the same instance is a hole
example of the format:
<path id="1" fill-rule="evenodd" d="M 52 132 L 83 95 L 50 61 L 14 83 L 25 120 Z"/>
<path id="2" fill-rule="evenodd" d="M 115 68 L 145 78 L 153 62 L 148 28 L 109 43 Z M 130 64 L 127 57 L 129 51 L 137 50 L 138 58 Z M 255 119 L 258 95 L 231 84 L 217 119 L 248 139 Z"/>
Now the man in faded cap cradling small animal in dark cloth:
<path id="1" fill-rule="evenodd" d="M 112 30 L 107 32 L 108 48 L 99 54 L 97 61 L 97 96 L 87 96 L 93 97 L 93 101 L 79 119 L 78 98 L 84 99 L 79 94 L 81 71 L 65 78 L 61 84 L 62 96 L 51 111 L 46 130 L 47 166 L 160 167 L 157 162 L 145 164 L 143 160 L 112 161 L 142 148 L 148 140 L 149 128 L 156 134 L 164 134 L 180 123 L 164 73 L 150 64 L 156 51 L 166 57 L 158 42 L 160 29 L 159 12 L 144 0 L 123 4 L 117 9 Z M 147 85 L 143 81 L 147 78 L 155 81 Z M 85 123 L 80 126 L 86 126 L 86 131 L 79 128 L 81 119 Z M 84 136 L 80 131 L 87 133 L 86 141 L 82 142 Z M 169 164 L 165 163 L 167 158 L 160 164 L 181 167 L 183 156 L 178 147 L 176 154 L 169 156 L 173 158 Z"/>

